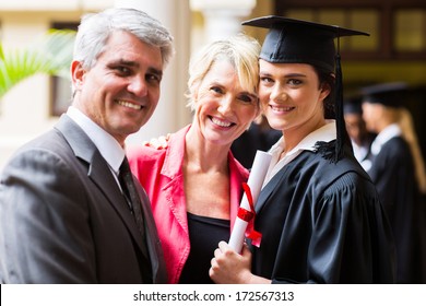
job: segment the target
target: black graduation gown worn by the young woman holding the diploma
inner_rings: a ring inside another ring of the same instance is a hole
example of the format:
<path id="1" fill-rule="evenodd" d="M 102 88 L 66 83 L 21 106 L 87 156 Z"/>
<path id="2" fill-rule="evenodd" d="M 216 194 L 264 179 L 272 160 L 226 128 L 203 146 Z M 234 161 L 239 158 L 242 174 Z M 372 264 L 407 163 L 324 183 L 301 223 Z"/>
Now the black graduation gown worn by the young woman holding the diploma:
<path id="1" fill-rule="evenodd" d="M 393 283 L 394 246 L 377 191 L 350 148 L 304 151 L 262 189 L 252 272 L 273 283 Z"/>

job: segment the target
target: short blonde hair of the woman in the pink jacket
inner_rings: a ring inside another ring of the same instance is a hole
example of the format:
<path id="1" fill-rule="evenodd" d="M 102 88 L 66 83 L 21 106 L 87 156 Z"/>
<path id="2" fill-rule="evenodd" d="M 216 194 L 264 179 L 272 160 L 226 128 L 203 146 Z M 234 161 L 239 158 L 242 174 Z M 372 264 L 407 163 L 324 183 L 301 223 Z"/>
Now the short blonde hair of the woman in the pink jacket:
<path id="1" fill-rule="evenodd" d="M 187 106 L 196 108 L 194 94 L 205 74 L 218 60 L 227 60 L 237 72 L 240 85 L 257 94 L 259 83 L 260 44 L 255 38 L 239 34 L 226 39 L 215 40 L 200 49 L 190 60 Z"/>

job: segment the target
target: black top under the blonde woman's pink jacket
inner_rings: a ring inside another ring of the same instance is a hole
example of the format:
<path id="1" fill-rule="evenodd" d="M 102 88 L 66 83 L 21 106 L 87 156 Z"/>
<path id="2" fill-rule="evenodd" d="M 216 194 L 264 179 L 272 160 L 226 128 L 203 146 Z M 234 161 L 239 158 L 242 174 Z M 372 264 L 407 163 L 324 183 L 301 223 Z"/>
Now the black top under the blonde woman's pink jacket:
<path id="1" fill-rule="evenodd" d="M 187 213 L 191 250 L 185 263 L 179 283 L 211 284 L 209 276 L 214 250 L 221 240 L 229 240 L 229 220 Z"/>

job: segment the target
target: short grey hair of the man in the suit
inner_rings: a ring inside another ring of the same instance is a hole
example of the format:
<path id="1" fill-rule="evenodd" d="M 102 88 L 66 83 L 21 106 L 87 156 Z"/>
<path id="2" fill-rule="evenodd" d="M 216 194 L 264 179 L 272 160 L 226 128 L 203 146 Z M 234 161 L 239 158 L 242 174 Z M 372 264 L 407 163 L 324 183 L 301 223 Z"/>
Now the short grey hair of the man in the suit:
<path id="1" fill-rule="evenodd" d="M 135 9 L 114 8 L 82 17 L 73 59 L 80 61 L 83 68 L 91 69 L 105 50 L 108 37 L 116 31 L 129 32 L 141 42 L 159 47 L 164 64 L 175 52 L 173 36 L 157 20 Z"/>

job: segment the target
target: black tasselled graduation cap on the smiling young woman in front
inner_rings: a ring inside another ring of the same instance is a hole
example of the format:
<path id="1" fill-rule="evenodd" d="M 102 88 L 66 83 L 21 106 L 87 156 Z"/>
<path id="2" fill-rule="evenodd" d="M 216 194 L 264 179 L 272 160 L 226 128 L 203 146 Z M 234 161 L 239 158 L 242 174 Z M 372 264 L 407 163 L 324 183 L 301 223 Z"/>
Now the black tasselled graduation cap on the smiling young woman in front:
<path id="1" fill-rule="evenodd" d="M 336 120 L 335 162 L 343 155 L 347 139 L 343 118 L 343 84 L 340 63 L 340 44 L 334 38 L 369 34 L 303 20 L 282 16 L 263 16 L 242 22 L 242 25 L 269 28 L 260 58 L 276 63 L 308 63 L 335 74 L 334 113 Z"/>

